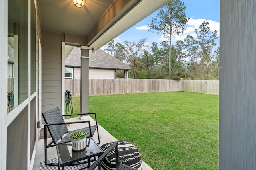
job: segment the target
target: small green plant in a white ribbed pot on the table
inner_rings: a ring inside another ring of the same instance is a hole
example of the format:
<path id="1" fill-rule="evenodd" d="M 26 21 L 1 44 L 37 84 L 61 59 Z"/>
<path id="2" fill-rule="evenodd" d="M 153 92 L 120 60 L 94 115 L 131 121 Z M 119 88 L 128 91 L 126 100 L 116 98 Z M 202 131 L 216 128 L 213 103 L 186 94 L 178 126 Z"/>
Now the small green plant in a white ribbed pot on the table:
<path id="1" fill-rule="evenodd" d="M 70 135 L 73 150 L 83 150 L 86 147 L 86 132 L 74 131 Z"/>

